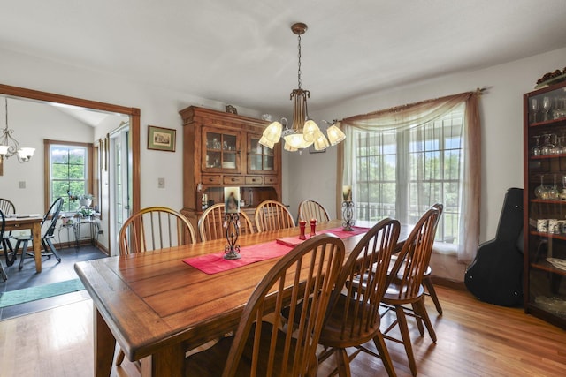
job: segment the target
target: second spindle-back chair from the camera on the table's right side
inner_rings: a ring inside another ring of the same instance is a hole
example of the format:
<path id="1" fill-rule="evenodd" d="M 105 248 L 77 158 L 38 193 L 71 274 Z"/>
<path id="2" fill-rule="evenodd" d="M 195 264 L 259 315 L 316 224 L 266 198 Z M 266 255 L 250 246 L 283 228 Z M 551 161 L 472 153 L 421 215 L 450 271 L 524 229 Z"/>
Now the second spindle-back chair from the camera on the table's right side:
<path id="1" fill-rule="evenodd" d="M 361 351 L 381 358 L 389 376 L 394 366 L 379 329 L 379 305 L 386 291 L 387 270 L 401 224 L 384 219 L 371 227 L 350 253 L 330 298 L 318 343 L 325 347 L 319 363 L 334 355 L 338 375 L 349 376 L 349 363 Z M 362 284 L 353 282 L 363 275 Z M 372 341 L 378 353 L 363 344 Z M 347 349 L 356 351 L 348 355 Z"/>

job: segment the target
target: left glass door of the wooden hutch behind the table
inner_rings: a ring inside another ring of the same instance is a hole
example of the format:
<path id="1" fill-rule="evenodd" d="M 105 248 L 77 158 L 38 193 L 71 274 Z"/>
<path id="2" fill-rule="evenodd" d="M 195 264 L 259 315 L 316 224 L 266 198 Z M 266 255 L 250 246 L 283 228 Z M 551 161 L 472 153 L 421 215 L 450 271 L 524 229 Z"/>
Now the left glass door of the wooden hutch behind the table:
<path id="1" fill-rule="evenodd" d="M 240 134 L 203 129 L 203 170 L 240 172 Z"/>

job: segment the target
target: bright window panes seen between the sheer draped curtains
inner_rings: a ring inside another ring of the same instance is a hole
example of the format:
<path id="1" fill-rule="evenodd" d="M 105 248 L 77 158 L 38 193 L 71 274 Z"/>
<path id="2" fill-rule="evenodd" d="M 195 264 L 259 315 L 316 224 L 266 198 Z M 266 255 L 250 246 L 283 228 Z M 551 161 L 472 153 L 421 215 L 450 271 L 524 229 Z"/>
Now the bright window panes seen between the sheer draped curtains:
<path id="1" fill-rule="evenodd" d="M 457 242 L 463 106 L 419 126 L 353 134 L 356 218 L 377 222 L 389 216 L 414 224 L 440 202 L 444 212 L 436 239 Z"/>

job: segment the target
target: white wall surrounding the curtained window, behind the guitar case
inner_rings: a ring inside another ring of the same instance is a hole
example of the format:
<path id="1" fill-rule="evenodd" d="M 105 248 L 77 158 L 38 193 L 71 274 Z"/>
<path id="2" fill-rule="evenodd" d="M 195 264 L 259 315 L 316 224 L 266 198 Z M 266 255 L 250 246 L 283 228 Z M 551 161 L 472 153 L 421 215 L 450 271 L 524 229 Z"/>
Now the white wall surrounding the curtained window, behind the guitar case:
<path id="1" fill-rule="evenodd" d="M 406 103 L 419 102 L 449 94 L 486 87 L 480 99 L 482 123 L 482 184 L 480 241 L 495 235 L 502 200 L 510 187 L 523 187 L 523 94 L 533 90 L 536 80 L 546 72 L 562 69 L 566 49 L 524 58 L 509 64 L 488 67 L 476 72 L 449 75 L 440 79 L 399 87 L 365 98 L 341 103 L 332 109 L 310 114 L 317 120 L 351 117 Z M 335 147 L 325 154 L 303 155 L 284 152 L 284 162 L 291 171 L 287 185 L 287 204 L 296 212 L 305 198 L 318 198 L 335 210 L 331 195 L 336 179 Z"/>

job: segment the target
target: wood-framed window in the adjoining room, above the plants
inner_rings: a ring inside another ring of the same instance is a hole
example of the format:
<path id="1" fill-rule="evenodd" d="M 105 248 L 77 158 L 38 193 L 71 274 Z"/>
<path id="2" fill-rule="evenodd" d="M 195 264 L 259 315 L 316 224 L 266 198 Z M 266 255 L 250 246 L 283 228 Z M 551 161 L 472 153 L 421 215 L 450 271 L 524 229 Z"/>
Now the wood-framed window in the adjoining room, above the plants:
<path id="1" fill-rule="evenodd" d="M 48 194 L 49 203 L 58 197 L 65 200 L 63 211 L 74 212 L 80 207 L 78 200 L 69 200 L 68 193 L 80 195 L 92 192 L 92 145 L 45 140 L 49 162 Z M 49 206 L 49 204 L 48 204 Z"/>

